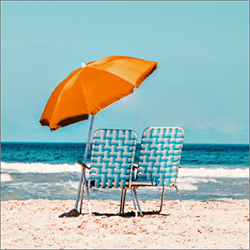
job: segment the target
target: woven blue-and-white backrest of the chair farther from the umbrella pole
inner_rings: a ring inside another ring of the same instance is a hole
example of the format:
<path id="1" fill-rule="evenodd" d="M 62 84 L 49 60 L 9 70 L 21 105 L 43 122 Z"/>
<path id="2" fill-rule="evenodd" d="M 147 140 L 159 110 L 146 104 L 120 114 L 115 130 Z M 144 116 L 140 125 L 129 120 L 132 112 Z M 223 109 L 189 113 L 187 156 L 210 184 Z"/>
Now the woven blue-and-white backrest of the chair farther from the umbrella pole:
<path id="1" fill-rule="evenodd" d="M 138 180 L 155 181 L 156 186 L 174 184 L 178 175 L 184 130 L 179 127 L 150 127 L 142 134 Z"/>

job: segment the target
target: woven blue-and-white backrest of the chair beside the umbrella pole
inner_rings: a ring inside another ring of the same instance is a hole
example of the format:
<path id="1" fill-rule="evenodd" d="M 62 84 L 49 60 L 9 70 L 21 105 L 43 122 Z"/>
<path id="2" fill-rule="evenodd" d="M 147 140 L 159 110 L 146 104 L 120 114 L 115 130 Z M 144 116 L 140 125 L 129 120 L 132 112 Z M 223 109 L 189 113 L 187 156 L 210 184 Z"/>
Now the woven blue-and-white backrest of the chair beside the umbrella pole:
<path id="1" fill-rule="evenodd" d="M 92 181 L 97 188 L 125 188 L 130 179 L 136 140 L 132 130 L 97 130 L 93 137 L 88 185 Z"/>

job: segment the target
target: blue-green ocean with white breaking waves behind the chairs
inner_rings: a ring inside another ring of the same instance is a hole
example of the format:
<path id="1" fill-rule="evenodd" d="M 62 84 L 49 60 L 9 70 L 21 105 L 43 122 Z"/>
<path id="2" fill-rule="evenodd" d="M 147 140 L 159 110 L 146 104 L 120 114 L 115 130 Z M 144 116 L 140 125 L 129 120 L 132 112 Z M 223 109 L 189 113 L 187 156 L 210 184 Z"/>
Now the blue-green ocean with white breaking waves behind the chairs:
<path id="1" fill-rule="evenodd" d="M 76 199 L 81 173 L 76 161 L 84 152 L 85 143 L 1 142 L 1 200 Z M 180 165 L 177 185 L 183 200 L 249 201 L 249 145 L 184 143 Z M 161 199 L 161 187 L 137 190 L 139 200 Z M 120 194 L 120 189 L 93 188 L 90 199 L 119 201 Z M 176 199 L 175 189 L 167 188 L 164 200 Z"/>

